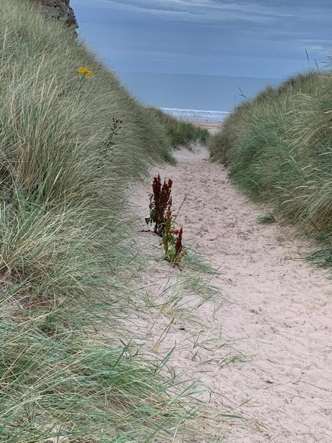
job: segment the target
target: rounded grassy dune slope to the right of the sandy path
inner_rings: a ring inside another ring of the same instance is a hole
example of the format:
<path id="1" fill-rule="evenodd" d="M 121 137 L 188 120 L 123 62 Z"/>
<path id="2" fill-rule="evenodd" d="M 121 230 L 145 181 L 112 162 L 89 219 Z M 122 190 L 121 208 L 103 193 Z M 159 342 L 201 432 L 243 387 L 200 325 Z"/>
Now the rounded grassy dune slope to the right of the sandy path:
<path id="1" fill-rule="evenodd" d="M 243 190 L 326 240 L 317 257 L 332 262 L 331 109 L 331 74 L 300 74 L 235 108 L 209 146 Z"/>

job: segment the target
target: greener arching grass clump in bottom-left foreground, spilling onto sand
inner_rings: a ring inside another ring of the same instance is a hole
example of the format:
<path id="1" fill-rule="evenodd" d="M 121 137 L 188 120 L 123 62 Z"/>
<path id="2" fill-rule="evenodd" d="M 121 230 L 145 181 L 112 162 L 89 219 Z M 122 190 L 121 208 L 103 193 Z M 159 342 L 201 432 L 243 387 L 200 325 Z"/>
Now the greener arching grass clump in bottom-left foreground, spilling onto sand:
<path id="1" fill-rule="evenodd" d="M 1 442 L 147 441 L 155 434 L 168 441 L 168 426 L 195 413 L 184 401 L 195 386 L 181 392 L 166 361 L 145 363 L 138 349 L 59 324 L 43 334 L 38 320 L 2 326 Z"/>

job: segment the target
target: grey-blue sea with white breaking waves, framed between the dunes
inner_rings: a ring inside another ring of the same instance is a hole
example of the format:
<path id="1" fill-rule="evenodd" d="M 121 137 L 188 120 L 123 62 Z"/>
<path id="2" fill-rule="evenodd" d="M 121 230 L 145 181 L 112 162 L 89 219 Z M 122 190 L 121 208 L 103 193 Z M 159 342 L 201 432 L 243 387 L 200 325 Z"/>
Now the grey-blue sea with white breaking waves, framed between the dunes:
<path id="1" fill-rule="evenodd" d="M 243 100 L 282 79 L 118 71 L 142 104 L 185 119 L 219 122 Z"/>

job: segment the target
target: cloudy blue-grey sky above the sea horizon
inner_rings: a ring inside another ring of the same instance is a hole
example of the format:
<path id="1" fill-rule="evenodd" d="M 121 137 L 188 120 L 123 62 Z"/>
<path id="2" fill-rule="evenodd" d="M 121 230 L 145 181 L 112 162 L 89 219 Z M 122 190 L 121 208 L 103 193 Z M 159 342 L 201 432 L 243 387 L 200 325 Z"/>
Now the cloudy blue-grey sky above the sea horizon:
<path id="1" fill-rule="evenodd" d="M 71 0 L 116 70 L 284 78 L 332 47 L 332 0 Z"/>

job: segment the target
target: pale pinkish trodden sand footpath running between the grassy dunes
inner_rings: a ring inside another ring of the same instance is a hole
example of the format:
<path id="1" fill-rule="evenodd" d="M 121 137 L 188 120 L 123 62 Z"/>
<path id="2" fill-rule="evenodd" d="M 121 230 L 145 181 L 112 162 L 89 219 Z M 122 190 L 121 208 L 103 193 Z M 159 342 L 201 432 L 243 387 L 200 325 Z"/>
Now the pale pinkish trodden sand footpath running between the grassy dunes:
<path id="1" fill-rule="evenodd" d="M 227 171 L 211 163 L 206 150 L 182 149 L 176 157 L 176 166 L 159 173 L 174 181 L 175 208 L 187 194 L 178 221 L 186 239 L 219 269 L 211 283 L 227 296 L 221 309 L 205 307 L 206 330 L 213 320 L 211 330 L 233 340 L 229 346 L 245 358 L 223 365 L 180 350 L 175 364 L 188 379 L 200 377 L 220 394 L 204 398 L 211 409 L 248 418 L 226 420 L 220 441 L 331 442 L 331 280 L 298 259 L 301 244 L 286 228 L 257 222 L 264 210 L 229 183 Z M 142 215 L 149 193 L 148 184 L 137 192 Z M 169 279 L 168 268 L 156 265 L 154 283 L 148 279 L 152 292 Z M 165 325 L 154 324 L 156 337 Z M 168 329 L 168 346 L 181 349 L 184 329 Z"/>

